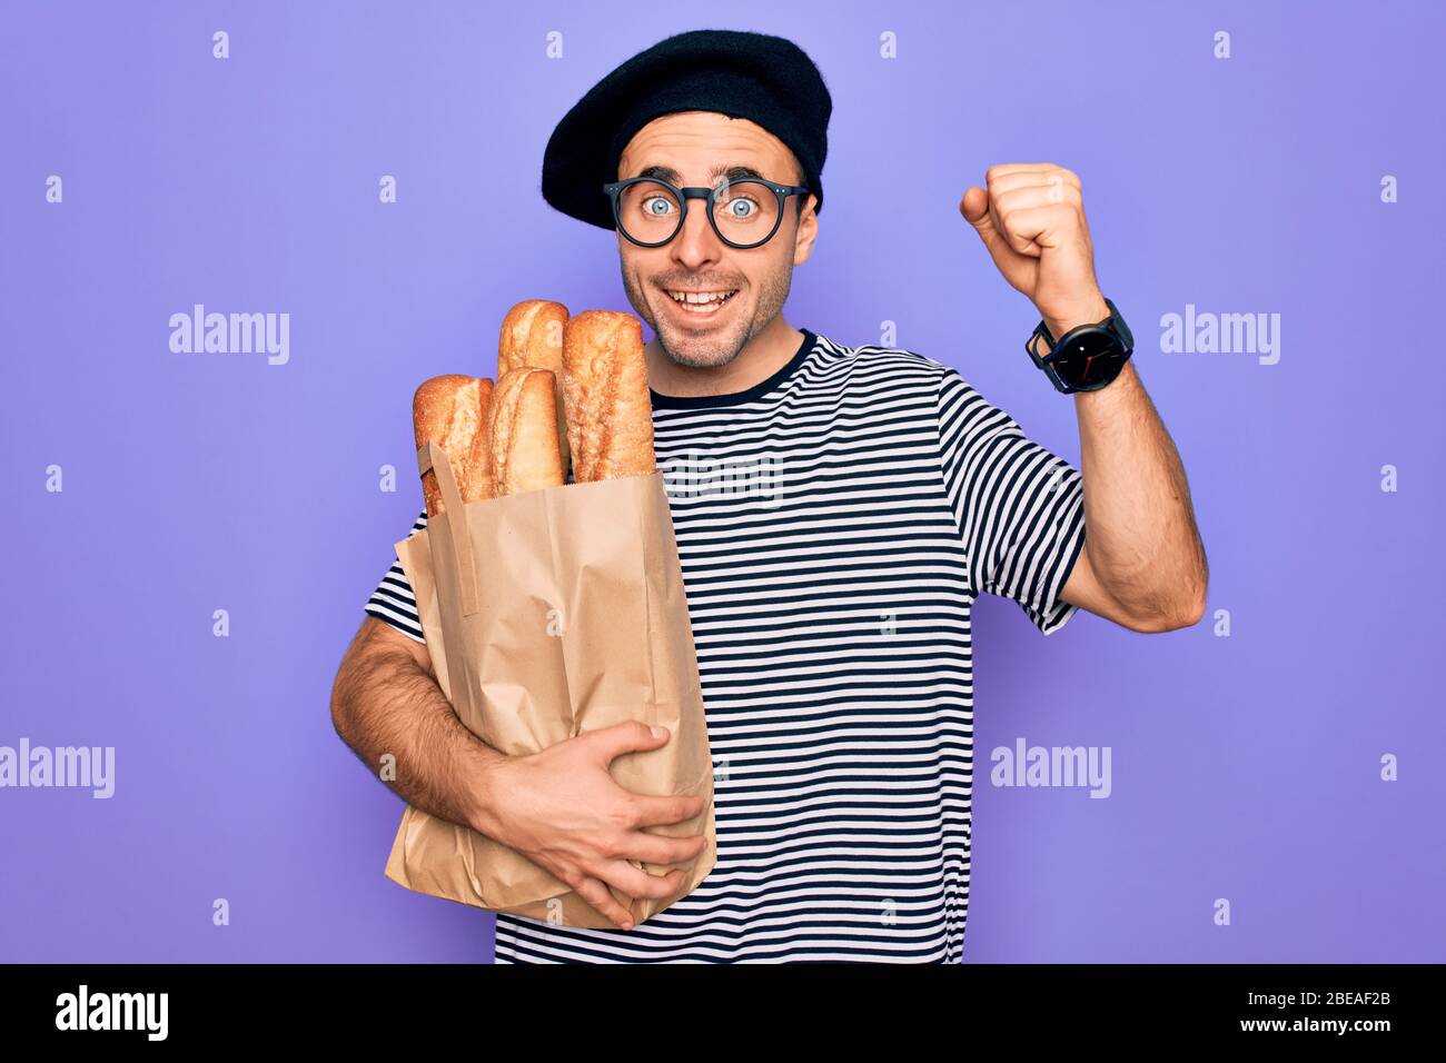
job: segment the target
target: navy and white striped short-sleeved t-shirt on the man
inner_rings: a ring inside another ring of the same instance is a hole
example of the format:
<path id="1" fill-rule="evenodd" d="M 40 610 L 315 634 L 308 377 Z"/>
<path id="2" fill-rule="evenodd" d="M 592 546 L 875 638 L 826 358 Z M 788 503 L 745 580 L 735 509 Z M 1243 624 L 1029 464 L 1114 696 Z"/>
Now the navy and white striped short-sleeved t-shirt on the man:
<path id="1" fill-rule="evenodd" d="M 745 392 L 652 396 L 717 863 L 630 931 L 499 914 L 499 963 L 963 955 L 970 606 L 1012 599 L 1045 635 L 1074 615 L 1082 479 L 954 369 L 801 331 Z M 424 641 L 401 563 L 366 610 Z"/>

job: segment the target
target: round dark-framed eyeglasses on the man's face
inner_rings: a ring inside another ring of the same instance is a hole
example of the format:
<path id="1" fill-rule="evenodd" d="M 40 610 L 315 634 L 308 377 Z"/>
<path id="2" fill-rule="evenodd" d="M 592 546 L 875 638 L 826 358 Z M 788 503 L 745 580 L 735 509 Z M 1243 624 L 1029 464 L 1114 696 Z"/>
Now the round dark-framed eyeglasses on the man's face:
<path id="1" fill-rule="evenodd" d="M 788 197 L 803 195 L 808 187 L 740 178 L 713 188 L 677 188 L 656 178 L 629 178 L 606 184 L 603 191 L 613 202 L 617 231 L 639 247 L 662 247 L 683 229 L 688 200 L 707 200 L 709 224 L 719 240 L 746 250 L 774 237 Z"/>

